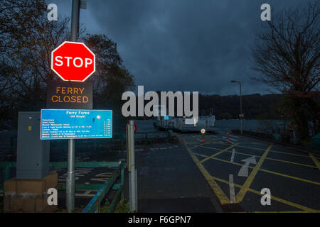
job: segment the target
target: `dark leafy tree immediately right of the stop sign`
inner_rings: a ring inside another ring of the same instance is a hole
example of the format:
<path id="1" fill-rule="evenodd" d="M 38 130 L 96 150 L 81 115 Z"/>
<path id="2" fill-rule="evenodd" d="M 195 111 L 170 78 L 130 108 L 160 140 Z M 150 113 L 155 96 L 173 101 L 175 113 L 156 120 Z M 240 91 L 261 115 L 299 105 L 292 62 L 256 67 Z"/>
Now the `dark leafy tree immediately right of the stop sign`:
<path id="1" fill-rule="evenodd" d="M 134 89 L 134 77 L 124 67 L 117 43 L 107 35 L 87 34 L 83 41 L 96 57 L 96 72 L 89 78 L 93 83 L 93 107 L 112 109 L 116 130 L 123 130 L 122 93 Z"/>

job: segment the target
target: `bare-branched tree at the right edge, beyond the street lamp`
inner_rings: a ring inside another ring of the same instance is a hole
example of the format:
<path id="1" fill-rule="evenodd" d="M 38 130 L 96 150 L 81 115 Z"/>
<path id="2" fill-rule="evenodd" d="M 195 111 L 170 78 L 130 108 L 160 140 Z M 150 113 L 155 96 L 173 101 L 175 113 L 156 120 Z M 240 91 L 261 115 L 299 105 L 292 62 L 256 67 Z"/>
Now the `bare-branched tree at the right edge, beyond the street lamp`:
<path id="1" fill-rule="evenodd" d="M 302 138 L 308 138 L 309 129 L 320 131 L 319 40 L 320 7 L 314 1 L 273 16 L 252 47 L 253 69 L 262 74 L 252 79 L 285 95 L 285 113 Z"/>

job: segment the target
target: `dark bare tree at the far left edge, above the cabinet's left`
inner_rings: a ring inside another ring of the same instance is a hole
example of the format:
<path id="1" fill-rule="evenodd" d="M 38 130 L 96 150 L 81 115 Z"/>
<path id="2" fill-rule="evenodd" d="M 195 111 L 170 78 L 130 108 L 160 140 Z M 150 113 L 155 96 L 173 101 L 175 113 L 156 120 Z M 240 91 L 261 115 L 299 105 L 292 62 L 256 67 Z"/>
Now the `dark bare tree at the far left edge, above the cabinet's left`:
<path id="1" fill-rule="evenodd" d="M 0 125 L 9 128 L 16 118 L 17 99 L 23 95 L 23 88 L 15 75 L 22 74 L 22 61 L 17 61 L 23 47 L 32 45 L 29 37 L 38 26 L 43 12 L 44 0 L 0 1 Z M 27 84 L 27 83 L 26 83 Z M 17 91 L 18 90 L 18 91 Z"/>

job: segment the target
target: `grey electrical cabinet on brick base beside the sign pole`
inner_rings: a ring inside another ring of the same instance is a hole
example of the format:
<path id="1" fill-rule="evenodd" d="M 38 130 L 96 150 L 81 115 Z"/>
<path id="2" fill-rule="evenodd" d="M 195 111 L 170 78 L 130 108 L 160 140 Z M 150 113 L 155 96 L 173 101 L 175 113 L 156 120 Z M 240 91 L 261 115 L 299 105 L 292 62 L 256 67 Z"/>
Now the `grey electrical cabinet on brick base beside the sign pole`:
<path id="1" fill-rule="evenodd" d="M 40 140 L 40 112 L 18 113 L 17 179 L 41 179 L 49 174 L 50 142 Z"/>

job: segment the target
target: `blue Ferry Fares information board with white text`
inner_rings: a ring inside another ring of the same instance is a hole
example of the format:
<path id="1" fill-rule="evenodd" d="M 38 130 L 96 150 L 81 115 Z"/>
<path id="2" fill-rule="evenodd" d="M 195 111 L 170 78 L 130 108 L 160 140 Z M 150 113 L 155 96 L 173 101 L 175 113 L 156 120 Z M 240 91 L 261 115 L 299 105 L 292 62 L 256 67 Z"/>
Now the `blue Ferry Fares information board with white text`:
<path id="1" fill-rule="evenodd" d="M 111 110 L 41 110 L 41 140 L 89 138 L 112 138 Z"/>

